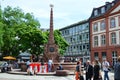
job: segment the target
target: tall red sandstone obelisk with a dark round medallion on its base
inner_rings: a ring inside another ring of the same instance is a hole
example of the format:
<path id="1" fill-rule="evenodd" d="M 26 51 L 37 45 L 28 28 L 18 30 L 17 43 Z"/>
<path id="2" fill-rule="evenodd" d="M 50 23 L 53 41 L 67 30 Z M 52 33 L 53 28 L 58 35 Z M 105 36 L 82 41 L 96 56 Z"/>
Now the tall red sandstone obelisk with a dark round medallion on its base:
<path id="1" fill-rule="evenodd" d="M 53 62 L 59 61 L 58 45 L 55 44 L 54 32 L 53 32 L 53 5 L 50 5 L 50 32 L 48 43 L 44 46 L 44 60 L 53 60 Z"/>

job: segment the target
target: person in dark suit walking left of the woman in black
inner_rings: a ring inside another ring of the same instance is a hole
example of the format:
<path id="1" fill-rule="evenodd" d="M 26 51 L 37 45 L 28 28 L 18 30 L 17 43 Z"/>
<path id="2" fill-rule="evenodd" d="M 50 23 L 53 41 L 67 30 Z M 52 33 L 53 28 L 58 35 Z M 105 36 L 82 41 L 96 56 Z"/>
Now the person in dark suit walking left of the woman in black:
<path id="1" fill-rule="evenodd" d="M 86 63 L 86 80 L 91 80 L 93 76 L 93 66 L 88 60 Z"/>

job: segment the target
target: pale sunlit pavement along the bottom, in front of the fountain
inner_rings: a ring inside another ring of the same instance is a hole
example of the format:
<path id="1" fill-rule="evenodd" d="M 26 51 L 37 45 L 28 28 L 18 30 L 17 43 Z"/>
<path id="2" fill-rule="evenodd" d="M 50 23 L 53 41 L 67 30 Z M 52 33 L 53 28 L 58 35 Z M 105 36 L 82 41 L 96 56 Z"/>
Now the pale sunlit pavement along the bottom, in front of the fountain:
<path id="1" fill-rule="evenodd" d="M 103 75 L 103 72 L 102 72 Z M 29 75 L 16 75 L 16 74 L 8 74 L 8 73 L 0 73 L 0 80 L 75 80 L 74 75 L 69 75 L 66 77 L 58 77 L 58 76 L 29 76 Z M 114 80 L 114 74 L 109 73 L 110 80 Z"/>

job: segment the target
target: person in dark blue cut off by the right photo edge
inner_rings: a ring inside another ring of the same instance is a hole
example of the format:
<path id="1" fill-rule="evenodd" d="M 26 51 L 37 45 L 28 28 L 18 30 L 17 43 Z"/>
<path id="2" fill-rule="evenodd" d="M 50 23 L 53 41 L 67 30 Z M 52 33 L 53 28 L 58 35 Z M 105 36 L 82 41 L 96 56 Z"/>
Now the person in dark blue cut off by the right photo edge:
<path id="1" fill-rule="evenodd" d="M 114 80 L 120 80 L 120 56 L 117 61 L 118 62 L 114 66 Z"/>

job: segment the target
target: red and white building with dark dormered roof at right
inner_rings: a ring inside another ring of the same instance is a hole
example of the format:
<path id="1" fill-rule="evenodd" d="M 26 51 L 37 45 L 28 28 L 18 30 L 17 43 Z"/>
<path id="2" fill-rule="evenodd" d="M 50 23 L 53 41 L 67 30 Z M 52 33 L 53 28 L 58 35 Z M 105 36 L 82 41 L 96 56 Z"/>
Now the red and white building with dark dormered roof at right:
<path id="1" fill-rule="evenodd" d="M 90 44 L 92 61 L 106 58 L 114 66 L 120 56 L 120 0 L 93 9 Z"/>

